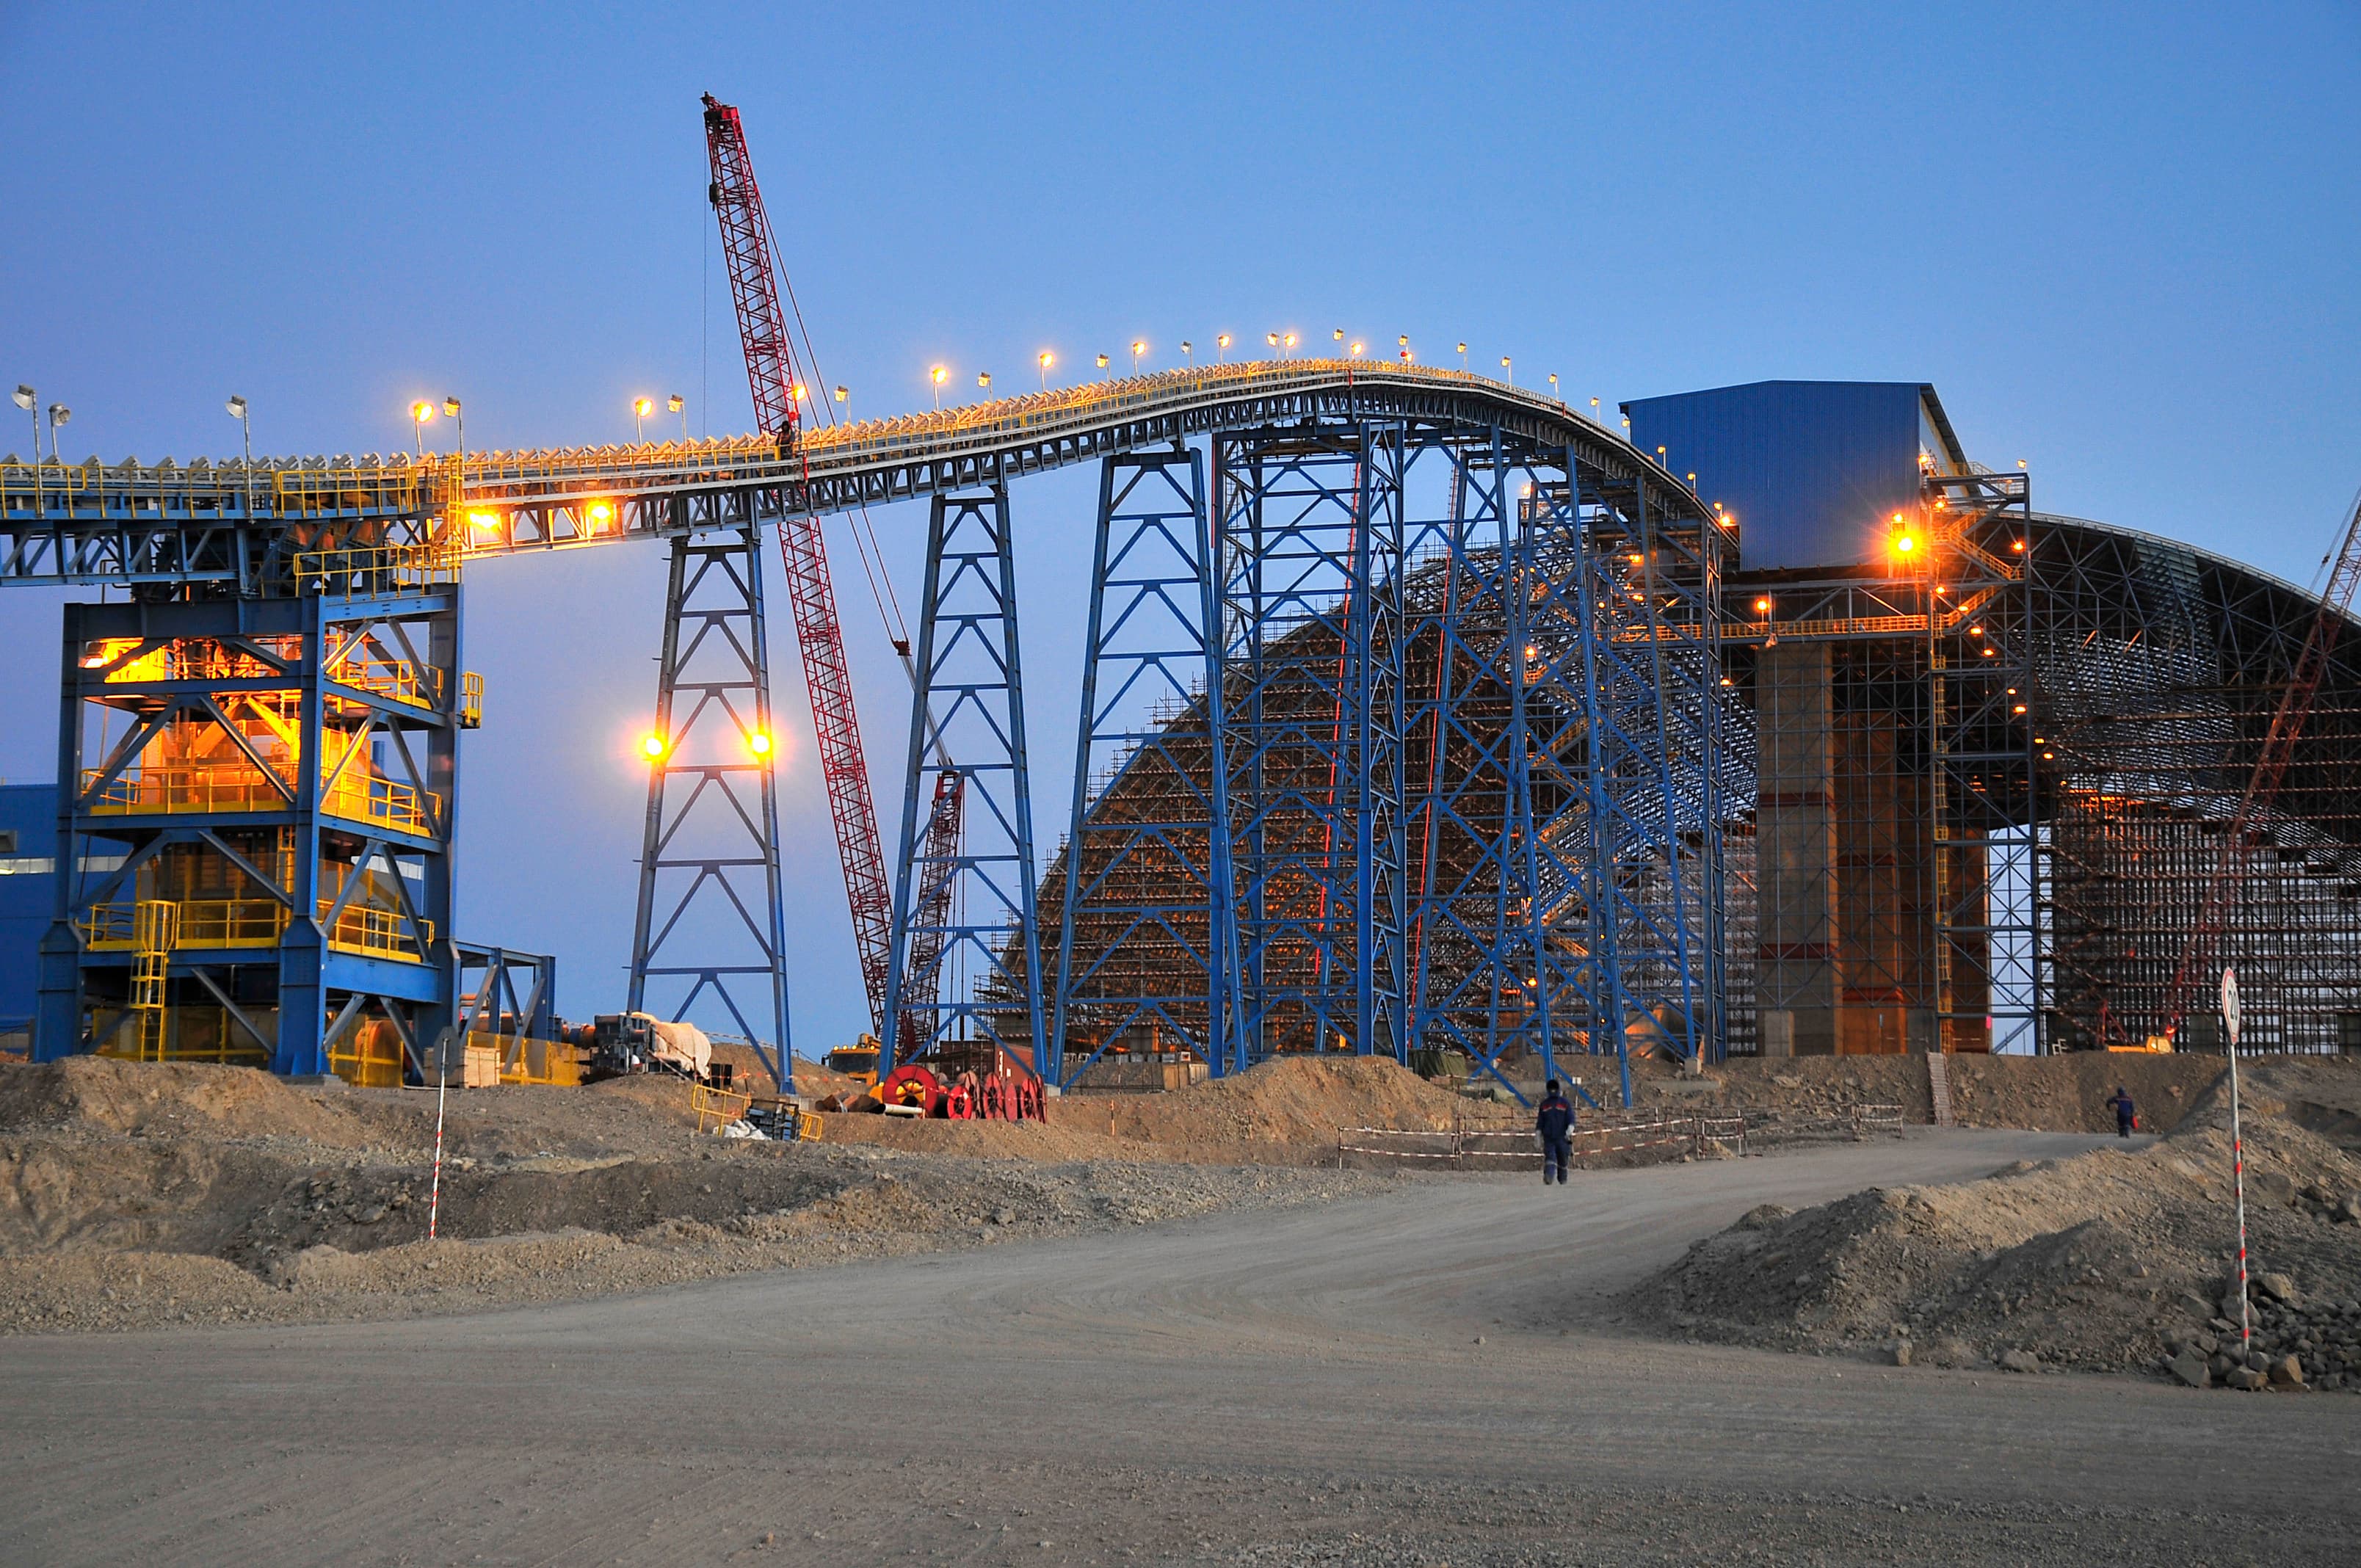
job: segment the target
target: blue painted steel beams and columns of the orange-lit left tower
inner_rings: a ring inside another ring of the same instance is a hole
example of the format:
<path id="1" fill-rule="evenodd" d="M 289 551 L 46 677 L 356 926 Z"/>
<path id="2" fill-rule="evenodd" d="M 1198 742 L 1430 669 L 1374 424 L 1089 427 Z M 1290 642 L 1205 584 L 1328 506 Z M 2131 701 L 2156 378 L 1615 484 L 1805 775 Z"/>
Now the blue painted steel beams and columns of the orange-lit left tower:
<path id="1" fill-rule="evenodd" d="M 449 933 L 460 590 L 456 581 L 404 588 L 368 567 L 321 576 L 314 586 L 257 600 L 66 605 L 57 753 L 57 864 L 64 871 L 57 919 L 40 942 L 38 1060 L 104 1048 L 130 1023 L 130 1013 L 118 1011 L 111 1025 L 94 1027 L 92 992 L 125 989 L 132 959 L 94 949 L 85 930 L 102 907 L 142 897 L 179 902 L 177 888 L 158 886 L 158 876 L 170 852 L 182 850 L 229 876 L 234 900 L 281 907 L 283 933 L 276 947 L 179 942 L 168 963 L 172 1006 L 220 1006 L 241 1034 L 267 1046 L 272 1070 L 283 1074 L 328 1072 L 328 1053 L 345 1032 L 378 1015 L 401 1039 L 408 1072 L 425 1077 L 458 999 L 458 949 Z M 283 652 L 290 645 L 293 654 Z M 347 673 L 357 661 L 387 659 L 411 666 L 413 699 L 378 690 L 366 673 Z M 238 720 L 257 723 L 264 697 L 288 694 L 295 697 L 295 725 L 279 737 L 288 756 L 267 758 Z M 132 718 L 102 756 L 90 753 L 87 720 L 97 706 L 118 706 Z M 243 751 L 231 760 L 250 765 L 257 779 L 279 777 L 286 798 L 241 796 L 234 810 L 222 810 L 205 789 L 191 786 L 187 798 L 175 793 L 170 775 L 149 782 L 146 751 L 175 723 L 212 725 L 222 741 Z M 333 751 L 331 732 L 345 737 Z M 385 786 L 371 782 L 323 798 L 321 760 L 328 756 L 335 756 L 331 779 L 382 765 Z M 423 831 L 392 810 L 394 786 L 418 791 Z M 109 791 L 137 801 L 139 810 L 104 810 Z M 260 834 L 281 838 L 283 848 L 262 850 Z M 326 860 L 328 838 L 335 841 L 333 860 Z M 123 862 L 85 869 L 92 841 L 120 843 Z M 323 876 L 331 867 L 333 886 Z M 394 935 L 406 933 L 413 959 L 331 942 L 328 933 L 361 900 L 385 912 Z M 272 971 L 262 989 L 250 975 L 257 968 Z M 253 1015 L 264 1006 L 264 989 L 276 1008 L 269 1039 Z"/>

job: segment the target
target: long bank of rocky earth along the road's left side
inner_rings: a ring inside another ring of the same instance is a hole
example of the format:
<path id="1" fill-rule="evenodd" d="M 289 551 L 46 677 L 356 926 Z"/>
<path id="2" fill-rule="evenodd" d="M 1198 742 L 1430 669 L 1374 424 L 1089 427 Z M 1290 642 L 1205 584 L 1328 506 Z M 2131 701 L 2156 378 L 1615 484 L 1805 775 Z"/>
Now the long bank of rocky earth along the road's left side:
<path id="1" fill-rule="evenodd" d="M 678 1082 L 616 1079 L 453 1096 L 427 1242 L 432 1098 L 241 1067 L 0 1067 L 0 1332 L 555 1301 L 1419 1178 L 1107 1157 L 1140 1145 L 1103 1138 L 1081 1159 L 725 1141 L 694 1136 Z"/>

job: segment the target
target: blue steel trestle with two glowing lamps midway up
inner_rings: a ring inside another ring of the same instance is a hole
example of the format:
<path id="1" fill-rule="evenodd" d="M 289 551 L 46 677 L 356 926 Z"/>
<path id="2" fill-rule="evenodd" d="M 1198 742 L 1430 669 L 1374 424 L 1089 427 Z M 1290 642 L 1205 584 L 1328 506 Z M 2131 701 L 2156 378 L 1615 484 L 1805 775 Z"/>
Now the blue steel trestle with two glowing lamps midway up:
<path id="1" fill-rule="evenodd" d="M 673 992 L 675 1020 L 727 1013 L 779 1091 L 793 1093 L 774 758 L 763 531 L 680 536 L 663 597 L 628 1006 L 656 1011 L 654 980 Z M 671 961 L 673 952 L 685 956 Z"/>

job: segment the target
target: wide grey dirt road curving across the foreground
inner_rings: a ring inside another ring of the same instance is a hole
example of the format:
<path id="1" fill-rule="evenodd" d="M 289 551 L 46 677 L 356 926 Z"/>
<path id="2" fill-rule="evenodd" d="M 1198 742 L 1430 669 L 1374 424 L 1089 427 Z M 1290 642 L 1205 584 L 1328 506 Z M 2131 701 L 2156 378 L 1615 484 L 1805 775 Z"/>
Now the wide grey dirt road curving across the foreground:
<path id="1" fill-rule="evenodd" d="M 2352 1403 L 1627 1337 L 1957 1131 L 472 1318 L 0 1344 L 7 1561 L 2354 1561 Z"/>

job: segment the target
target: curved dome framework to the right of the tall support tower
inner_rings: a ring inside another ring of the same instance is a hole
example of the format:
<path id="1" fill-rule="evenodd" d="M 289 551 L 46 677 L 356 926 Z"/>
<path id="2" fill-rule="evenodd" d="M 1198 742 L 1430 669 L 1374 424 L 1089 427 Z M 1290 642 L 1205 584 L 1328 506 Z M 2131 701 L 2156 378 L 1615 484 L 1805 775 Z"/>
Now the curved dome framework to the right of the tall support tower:
<path id="1" fill-rule="evenodd" d="M 2205 909 L 2319 605 L 2189 545 L 2030 522 L 2045 789 L 2045 956 L 2056 1046 L 2141 1046 Z M 2361 1048 L 2361 654 L 2347 628 L 2224 921 L 2243 1046 Z M 2193 1013 L 2177 1048 L 2222 1048 Z"/>

